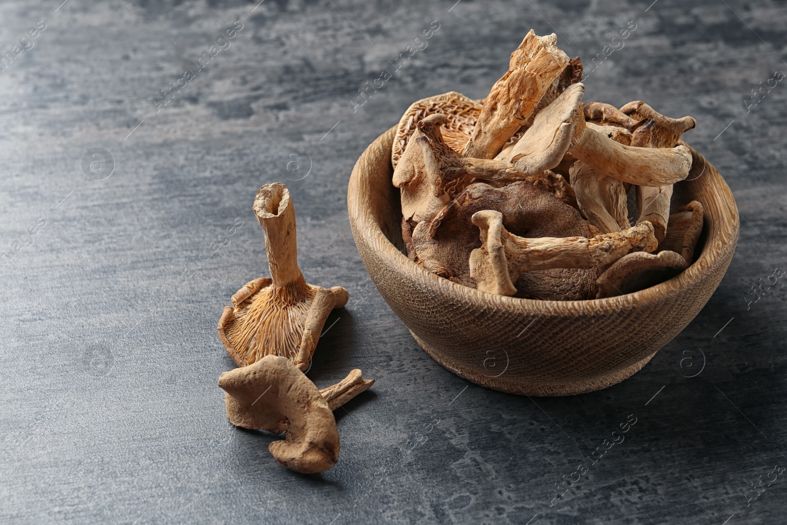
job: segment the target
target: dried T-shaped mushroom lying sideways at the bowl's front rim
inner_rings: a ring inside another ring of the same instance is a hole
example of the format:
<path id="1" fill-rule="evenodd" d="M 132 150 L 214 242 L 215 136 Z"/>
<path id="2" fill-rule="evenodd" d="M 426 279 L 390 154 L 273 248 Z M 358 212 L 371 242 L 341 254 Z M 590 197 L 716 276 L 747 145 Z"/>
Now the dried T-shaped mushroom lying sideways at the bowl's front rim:
<path id="1" fill-rule="evenodd" d="M 653 251 L 653 227 L 639 224 L 623 231 L 585 237 L 523 238 L 503 225 L 503 214 L 483 210 L 473 215 L 482 245 L 470 255 L 470 275 L 478 290 L 513 295 L 523 272 L 548 268 L 594 268 L 632 251 Z"/>

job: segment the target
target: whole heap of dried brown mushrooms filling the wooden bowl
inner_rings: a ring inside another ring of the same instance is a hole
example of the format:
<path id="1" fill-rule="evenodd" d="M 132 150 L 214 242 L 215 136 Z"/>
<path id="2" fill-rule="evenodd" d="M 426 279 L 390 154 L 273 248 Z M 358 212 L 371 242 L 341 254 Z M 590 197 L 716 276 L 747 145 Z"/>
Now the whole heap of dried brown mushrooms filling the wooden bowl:
<path id="1" fill-rule="evenodd" d="M 413 103 L 391 151 L 408 257 L 477 290 L 608 298 L 693 262 L 699 201 L 675 202 L 694 128 L 645 102 L 582 102 L 582 62 L 531 30 L 483 100 Z"/>

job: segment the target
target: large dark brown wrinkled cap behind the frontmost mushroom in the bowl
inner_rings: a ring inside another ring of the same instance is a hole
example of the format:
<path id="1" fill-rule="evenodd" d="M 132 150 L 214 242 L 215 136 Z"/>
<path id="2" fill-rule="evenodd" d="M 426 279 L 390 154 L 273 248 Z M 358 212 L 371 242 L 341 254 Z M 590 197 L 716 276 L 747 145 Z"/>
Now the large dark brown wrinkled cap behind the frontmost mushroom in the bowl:
<path id="1" fill-rule="evenodd" d="M 508 231 L 528 237 L 587 236 L 590 231 L 579 212 L 555 195 L 526 181 L 501 188 L 474 183 L 438 213 L 431 223 L 418 224 L 412 231 L 416 262 L 428 271 L 475 287 L 470 275 L 470 254 L 481 246 L 472 216 L 494 209 L 504 216 Z M 579 300 L 596 294 L 597 272 L 582 269 L 553 269 L 523 274 L 515 283 L 518 297 Z"/>

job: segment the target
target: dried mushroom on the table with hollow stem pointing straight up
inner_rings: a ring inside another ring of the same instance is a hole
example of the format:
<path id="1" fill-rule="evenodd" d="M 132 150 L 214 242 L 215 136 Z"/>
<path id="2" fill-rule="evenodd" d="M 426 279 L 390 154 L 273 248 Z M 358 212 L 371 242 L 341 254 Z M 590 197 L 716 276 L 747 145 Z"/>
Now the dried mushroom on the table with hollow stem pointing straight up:
<path id="1" fill-rule="evenodd" d="M 219 320 L 219 338 L 238 366 L 275 355 L 305 370 L 328 314 L 345 305 L 347 290 L 312 286 L 303 278 L 295 210 L 283 183 L 260 187 L 254 213 L 264 231 L 272 279 L 254 279 L 233 295 L 233 305 Z"/>

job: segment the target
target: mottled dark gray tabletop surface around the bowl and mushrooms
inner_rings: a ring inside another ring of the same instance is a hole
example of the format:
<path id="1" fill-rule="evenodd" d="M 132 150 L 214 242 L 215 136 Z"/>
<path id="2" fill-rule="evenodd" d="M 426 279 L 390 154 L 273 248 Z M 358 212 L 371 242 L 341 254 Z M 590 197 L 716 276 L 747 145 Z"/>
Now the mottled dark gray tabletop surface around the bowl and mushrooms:
<path id="1" fill-rule="evenodd" d="M 787 4 L 455 1 L 0 4 L 3 55 L 46 24 L 0 72 L 0 522 L 784 522 L 787 473 L 771 473 L 787 465 L 787 284 L 745 298 L 787 268 L 785 81 L 745 100 L 787 72 Z M 231 47 L 157 112 L 160 90 L 235 20 Z M 353 112 L 357 90 L 432 20 L 427 48 Z M 696 117 L 685 138 L 742 214 L 730 270 L 624 383 L 533 399 L 467 383 L 368 281 L 346 216 L 350 170 L 413 100 L 485 96 L 530 28 L 587 62 L 630 20 L 586 100 Z M 98 175 L 83 170 L 94 148 L 113 158 Z M 220 313 L 267 273 L 253 197 L 277 180 L 294 197 L 309 283 L 351 295 L 309 376 L 377 379 L 336 412 L 341 457 L 320 475 L 276 464 L 273 436 L 233 429 L 216 386 L 234 366 Z M 590 466 L 630 414 L 625 442 Z M 586 475 L 550 501 L 580 463 Z"/>

